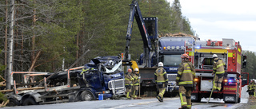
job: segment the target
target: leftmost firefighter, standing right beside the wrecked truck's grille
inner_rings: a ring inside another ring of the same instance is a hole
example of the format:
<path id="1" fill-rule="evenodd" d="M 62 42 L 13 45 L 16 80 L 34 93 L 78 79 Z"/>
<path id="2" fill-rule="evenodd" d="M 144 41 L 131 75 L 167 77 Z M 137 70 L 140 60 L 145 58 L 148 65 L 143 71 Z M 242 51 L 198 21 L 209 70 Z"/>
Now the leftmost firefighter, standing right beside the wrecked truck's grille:
<path id="1" fill-rule="evenodd" d="M 133 87 L 133 76 L 132 70 L 129 68 L 125 74 L 125 87 L 126 87 L 126 98 L 130 99 L 131 88 Z"/>

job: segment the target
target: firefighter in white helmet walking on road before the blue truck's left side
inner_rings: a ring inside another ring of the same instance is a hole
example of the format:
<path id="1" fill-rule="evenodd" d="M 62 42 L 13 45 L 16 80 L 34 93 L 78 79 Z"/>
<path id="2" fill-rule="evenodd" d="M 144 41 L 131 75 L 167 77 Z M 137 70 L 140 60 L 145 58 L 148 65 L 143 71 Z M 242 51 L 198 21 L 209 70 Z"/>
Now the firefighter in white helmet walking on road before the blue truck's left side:
<path id="1" fill-rule="evenodd" d="M 166 70 L 163 68 L 163 63 L 158 63 L 158 69 L 154 73 L 154 80 L 157 83 L 157 87 L 159 89 L 159 94 L 156 97 L 159 102 L 163 102 L 163 95 L 166 92 L 166 86 L 168 84 L 168 78 Z"/>

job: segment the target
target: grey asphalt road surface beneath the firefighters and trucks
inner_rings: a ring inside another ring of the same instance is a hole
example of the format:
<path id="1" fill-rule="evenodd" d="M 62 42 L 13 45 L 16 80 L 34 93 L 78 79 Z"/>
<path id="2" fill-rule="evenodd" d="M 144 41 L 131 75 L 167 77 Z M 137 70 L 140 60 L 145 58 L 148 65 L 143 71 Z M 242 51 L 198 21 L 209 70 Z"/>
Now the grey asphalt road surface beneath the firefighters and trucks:
<path id="1" fill-rule="evenodd" d="M 241 103 L 224 103 L 222 99 L 202 99 L 202 103 L 193 103 L 193 109 L 234 109 L 248 102 L 249 95 L 246 93 L 247 86 L 242 88 Z M 180 106 L 178 97 L 165 98 L 164 102 L 158 102 L 158 99 L 122 99 L 122 100 L 97 100 L 74 103 L 56 103 L 36 106 L 4 107 L 3 109 L 178 109 Z"/>

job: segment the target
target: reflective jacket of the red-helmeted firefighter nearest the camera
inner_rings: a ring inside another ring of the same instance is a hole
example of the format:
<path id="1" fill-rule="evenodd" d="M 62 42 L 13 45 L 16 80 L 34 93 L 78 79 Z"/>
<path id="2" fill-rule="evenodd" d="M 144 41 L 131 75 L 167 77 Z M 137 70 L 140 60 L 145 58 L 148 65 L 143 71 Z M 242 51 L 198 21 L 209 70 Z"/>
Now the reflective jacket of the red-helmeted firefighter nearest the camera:
<path id="1" fill-rule="evenodd" d="M 194 76 L 194 64 L 192 64 L 190 60 L 184 60 L 178 67 L 176 82 L 180 86 L 193 87 Z"/>

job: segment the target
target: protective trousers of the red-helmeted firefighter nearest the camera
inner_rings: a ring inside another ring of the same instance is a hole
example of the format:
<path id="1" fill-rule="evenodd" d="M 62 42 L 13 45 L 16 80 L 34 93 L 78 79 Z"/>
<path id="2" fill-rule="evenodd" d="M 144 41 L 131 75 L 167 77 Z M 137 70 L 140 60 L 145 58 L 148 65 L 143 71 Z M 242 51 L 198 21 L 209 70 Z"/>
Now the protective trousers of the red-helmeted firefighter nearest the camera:
<path id="1" fill-rule="evenodd" d="M 191 91 L 192 87 L 179 86 L 178 93 L 181 99 L 182 107 L 191 109 Z"/>

